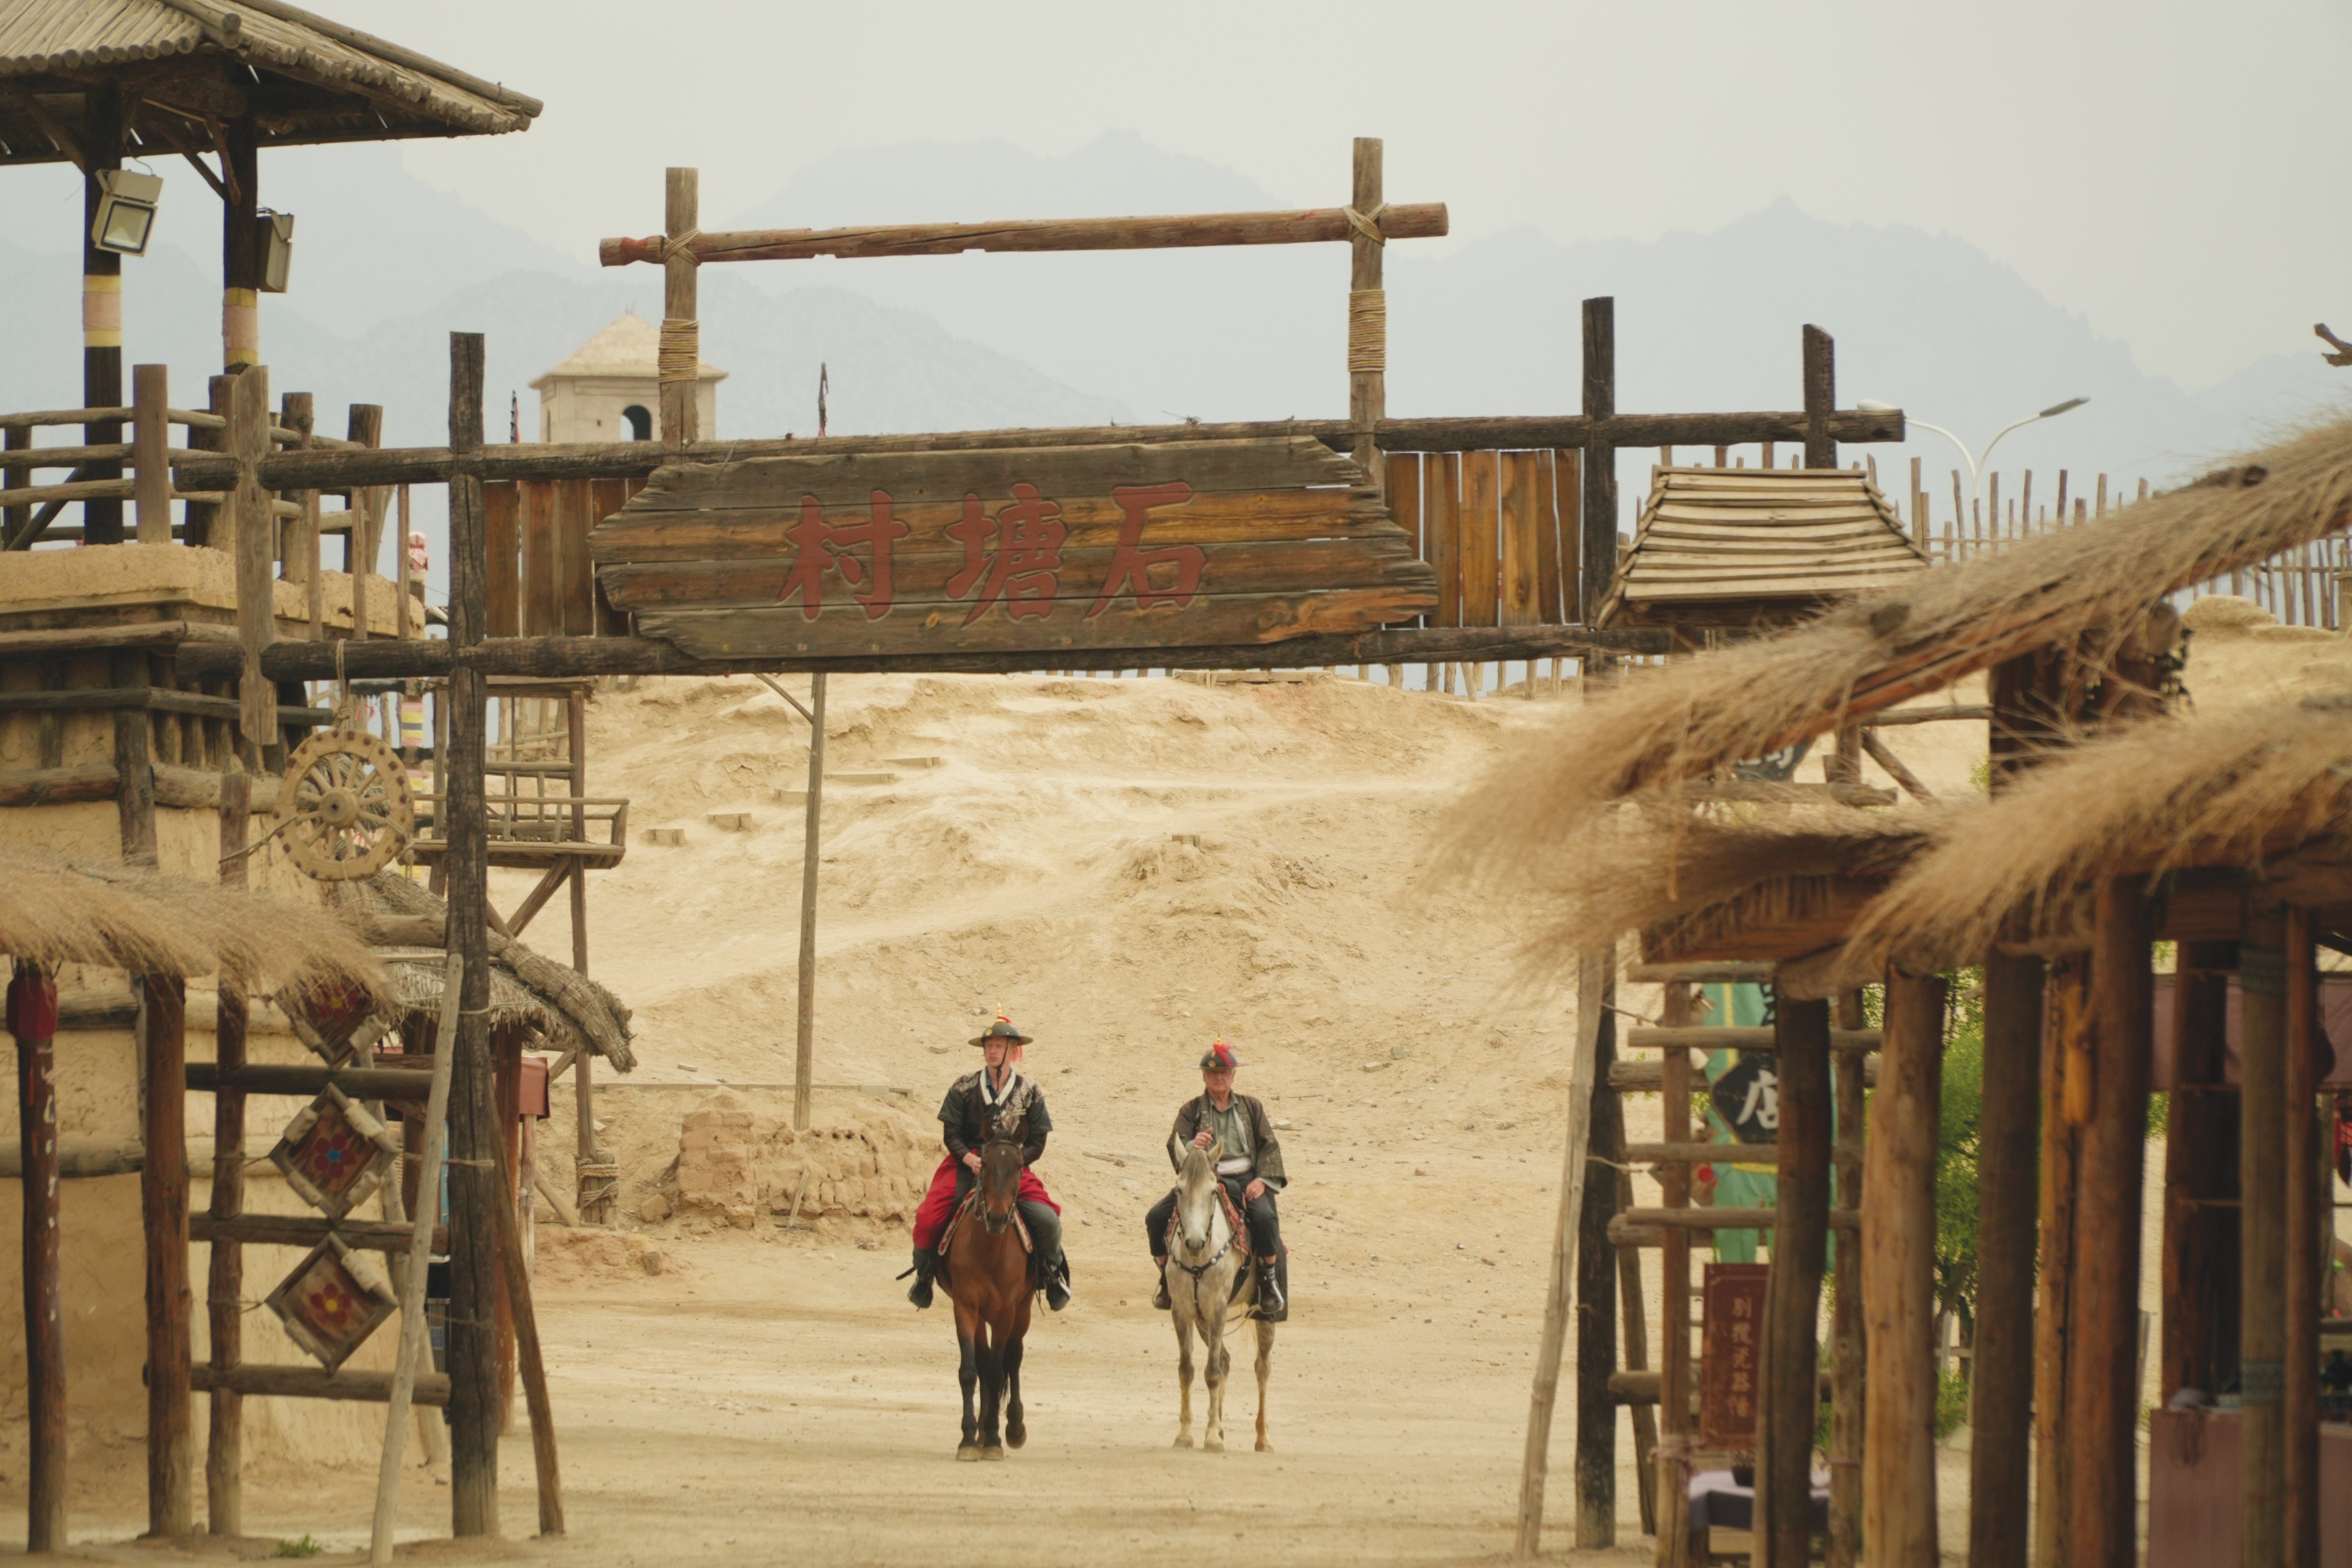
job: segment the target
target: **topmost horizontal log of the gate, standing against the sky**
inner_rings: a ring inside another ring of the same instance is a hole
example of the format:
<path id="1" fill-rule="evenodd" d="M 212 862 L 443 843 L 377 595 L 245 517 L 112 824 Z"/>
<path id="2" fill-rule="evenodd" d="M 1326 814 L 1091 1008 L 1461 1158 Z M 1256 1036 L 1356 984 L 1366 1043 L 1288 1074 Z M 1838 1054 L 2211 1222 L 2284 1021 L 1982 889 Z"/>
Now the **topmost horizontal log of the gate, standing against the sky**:
<path id="1" fill-rule="evenodd" d="M 1374 219 L 1383 240 L 1446 233 L 1444 202 L 1397 202 Z M 684 252 L 708 261 L 809 261 L 814 256 L 957 256 L 962 252 L 1162 252 L 1211 244 L 1327 244 L 1355 228 L 1345 207 L 1204 212 L 1174 219 L 1018 219 L 1002 223 L 889 223 L 861 228 L 701 230 Z M 663 235 L 600 240 L 597 261 L 666 261 Z"/>

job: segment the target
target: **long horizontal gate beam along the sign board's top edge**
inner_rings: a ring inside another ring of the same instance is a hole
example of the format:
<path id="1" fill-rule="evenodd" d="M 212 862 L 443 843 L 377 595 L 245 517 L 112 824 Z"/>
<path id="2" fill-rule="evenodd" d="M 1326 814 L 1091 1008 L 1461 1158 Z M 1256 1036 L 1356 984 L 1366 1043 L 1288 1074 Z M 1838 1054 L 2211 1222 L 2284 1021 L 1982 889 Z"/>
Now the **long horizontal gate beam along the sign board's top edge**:
<path id="1" fill-rule="evenodd" d="M 877 451 L 1000 451 L 1025 447 L 1101 447 L 1230 442 L 1270 435 L 1310 435 L 1334 451 L 1355 447 L 1345 418 L 1268 418 L 1200 425 L 1068 425 L 1035 430 L 946 430 L 931 435 L 833 435 L 826 440 L 760 437 L 743 442 L 508 442 L 466 458 L 466 470 L 494 480 L 642 480 L 666 463 L 729 463 L 776 456 L 851 456 Z M 1494 418 L 1383 418 L 1371 428 L 1381 451 L 1486 451 L 1541 447 L 1743 447 L 1802 442 L 1802 411 L 1738 414 L 1529 414 Z M 1844 444 L 1900 442 L 1903 411 L 1844 409 L 1830 416 L 1830 437 Z M 343 447 L 273 451 L 261 458 L 263 489 L 336 491 L 381 484 L 442 484 L 456 468 L 447 447 Z M 172 463 L 179 489 L 226 491 L 238 465 L 226 454 Z"/>

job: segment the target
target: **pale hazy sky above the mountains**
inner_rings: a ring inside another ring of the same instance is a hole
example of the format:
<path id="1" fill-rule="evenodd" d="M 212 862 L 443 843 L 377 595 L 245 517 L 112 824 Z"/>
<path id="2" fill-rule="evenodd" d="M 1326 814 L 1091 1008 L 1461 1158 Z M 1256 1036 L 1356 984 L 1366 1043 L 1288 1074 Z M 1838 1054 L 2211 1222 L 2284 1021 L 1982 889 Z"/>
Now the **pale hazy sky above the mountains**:
<path id="1" fill-rule="evenodd" d="M 663 165 L 701 167 L 717 226 L 840 148 L 1134 129 L 1336 205 L 1378 134 L 1390 200 L 1449 202 L 1456 240 L 1710 230 L 1778 195 L 1952 233 L 2192 390 L 2352 331 L 2345 0 L 327 9 L 543 99 L 522 136 L 407 160 L 583 259 L 661 226 Z"/>

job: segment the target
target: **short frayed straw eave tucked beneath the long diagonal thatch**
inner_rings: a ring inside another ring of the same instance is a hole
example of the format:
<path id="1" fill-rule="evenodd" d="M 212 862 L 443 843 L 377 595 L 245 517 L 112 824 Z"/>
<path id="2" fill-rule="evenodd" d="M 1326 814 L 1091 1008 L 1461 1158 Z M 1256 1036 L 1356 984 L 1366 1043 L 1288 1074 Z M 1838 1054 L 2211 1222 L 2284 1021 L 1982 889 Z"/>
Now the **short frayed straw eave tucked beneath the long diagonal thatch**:
<path id="1" fill-rule="evenodd" d="M 1531 973 L 1573 973 L 1578 954 L 1611 950 L 1625 931 L 1679 947 L 1823 914 L 1846 877 L 1893 875 L 1926 842 L 1924 813 L 1611 813 L 1517 870 L 1538 910 L 1522 957 Z"/>

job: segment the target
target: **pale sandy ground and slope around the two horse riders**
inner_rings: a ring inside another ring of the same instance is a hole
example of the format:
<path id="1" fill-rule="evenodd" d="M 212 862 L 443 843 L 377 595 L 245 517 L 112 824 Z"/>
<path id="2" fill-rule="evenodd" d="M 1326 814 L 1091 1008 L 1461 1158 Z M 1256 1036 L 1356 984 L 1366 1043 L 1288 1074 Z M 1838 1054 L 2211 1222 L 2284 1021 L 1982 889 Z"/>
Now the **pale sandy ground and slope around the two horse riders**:
<path id="1" fill-rule="evenodd" d="M 2345 646 L 2216 642 L 2192 686 L 2206 703 L 2340 686 Z M 1566 703 L 1357 682 L 835 682 L 830 769 L 898 778 L 840 785 L 826 811 L 816 1079 L 842 1088 L 818 1095 L 818 1124 L 875 1103 L 929 1124 L 974 1060 L 962 1039 L 997 1006 L 1037 1034 L 1028 1067 L 1056 1119 L 1042 1175 L 1065 1204 L 1080 1300 L 1033 1331 L 1028 1448 L 955 1465 L 953 1324 L 901 1300 L 901 1227 L 847 1213 L 790 1232 L 769 1213 L 748 1229 L 696 1208 L 644 1218 L 675 1197 L 689 1110 L 722 1084 L 774 1110 L 762 1086 L 790 1079 L 800 809 L 776 790 L 802 785 L 807 733 L 750 679 L 602 693 L 593 792 L 628 795 L 633 827 L 677 825 L 687 844 L 640 832 L 593 893 L 590 969 L 637 1009 L 642 1067 L 630 1086 L 600 1081 L 597 1098 L 630 1246 L 541 1229 L 572 1533 L 520 1540 L 534 1509 L 517 1420 L 501 1448 L 517 1540 L 435 1540 L 447 1490 L 412 1472 L 405 1556 L 1508 1556 L 1573 1009 L 1522 973 L 1512 912 L 1425 882 L 1423 849 L 1461 785 Z M 1983 755 L 1976 724 L 1891 741 L 1938 792 L 1964 792 Z M 903 757 L 938 766 L 891 762 Z M 753 820 L 724 832 L 713 813 Z M 494 900 L 513 907 L 524 889 L 501 875 Z M 557 900 L 527 940 L 567 952 L 564 919 Z M 1623 1004 L 1644 1011 L 1639 990 Z M 1287 1124 L 1298 1309 L 1275 1347 L 1272 1453 L 1249 1448 L 1247 1371 L 1232 1448 L 1169 1448 L 1174 1347 L 1145 1305 L 1138 1218 L 1167 1187 L 1157 1145 L 1216 1030 L 1249 1063 L 1242 1088 Z M 1656 1135 L 1656 1114 L 1635 1098 L 1632 1138 Z M 555 1171 L 569 1168 L 569 1128 L 560 1086 L 543 1133 Z M 1637 1182 L 1637 1201 L 1653 1192 Z M 2152 1246 L 2147 1258 L 2154 1305 Z M 1653 1262 L 1651 1286 L 1656 1324 Z M 1573 1537 L 1571 1446 L 1564 1413 L 1548 1556 Z M 1646 1561 L 1630 1432 L 1618 1455 L 1613 1556 Z M 139 1460 L 118 1458 L 80 1460 L 78 1535 L 141 1526 Z M 1964 1439 L 1940 1479 L 1943 1549 L 1959 1559 Z M 14 1505 L 12 1486 L 0 1497 Z M 301 1535 L 358 1547 L 369 1488 L 360 1469 L 254 1474 L 249 1549 Z M 7 1526 L 19 1521 L 12 1509 Z"/>

